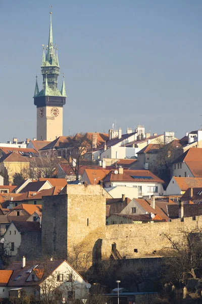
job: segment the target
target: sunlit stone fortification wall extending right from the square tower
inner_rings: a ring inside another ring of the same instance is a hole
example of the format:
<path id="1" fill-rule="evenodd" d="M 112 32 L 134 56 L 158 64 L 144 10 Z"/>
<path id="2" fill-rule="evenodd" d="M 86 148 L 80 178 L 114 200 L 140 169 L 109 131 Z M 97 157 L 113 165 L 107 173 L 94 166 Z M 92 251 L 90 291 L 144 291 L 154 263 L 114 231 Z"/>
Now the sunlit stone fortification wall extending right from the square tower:
<path id="1" fill-rule="evenodd" d="M 195 227 L 202 228 L 202 216 L 196 216 L 196 220 L 187 217 L 184 221 L 174 219 L 171 222 L 108 225 L 105 238 L 98 243 L 101 247 L 96 251 L 102 259 L 108 258 L 112 244 L 116 243 L 119 253 L 126 258 L 154 256 L 163 248 L 170 247 L 164 234 L 180 240 L 183 230 L 191 231 Z"/>

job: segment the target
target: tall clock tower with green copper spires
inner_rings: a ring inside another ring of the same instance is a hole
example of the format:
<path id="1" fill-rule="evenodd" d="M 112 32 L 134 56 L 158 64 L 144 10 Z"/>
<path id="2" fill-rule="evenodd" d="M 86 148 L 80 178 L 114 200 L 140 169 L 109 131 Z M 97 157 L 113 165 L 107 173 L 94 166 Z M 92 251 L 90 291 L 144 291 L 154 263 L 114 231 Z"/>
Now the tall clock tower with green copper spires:
<path id="1" fill-rule="evenodd" d="M 43 88 L 39 92 L 37 77 L 34 91 L 34 104 L 37 112 L 37 140 L 53 141 L 63 135 L 63 105 L 66 103 L 65 78 L 61 91 L 58 89 L 60 66 L 58 49 L 53 44 L 52 12 L 46 55 L 43 48 L 41 74 Z"/>

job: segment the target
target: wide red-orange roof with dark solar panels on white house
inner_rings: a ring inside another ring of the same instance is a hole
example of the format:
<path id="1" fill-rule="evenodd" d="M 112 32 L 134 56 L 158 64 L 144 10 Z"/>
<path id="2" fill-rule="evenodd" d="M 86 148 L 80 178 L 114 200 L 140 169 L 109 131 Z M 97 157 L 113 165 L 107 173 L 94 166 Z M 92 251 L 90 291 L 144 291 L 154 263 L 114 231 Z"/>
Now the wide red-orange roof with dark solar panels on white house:
<path id="1" fill-rule="evenodd" d="M 103 182 L 107 181 L 125 181 L 125 182 L 160 182 L 164 183 L 155 174 L 151 173 L 148 170 L 123 170 L 123 174 L 115 174 L 114 171 L 111 171 L 104 179 Z"/>

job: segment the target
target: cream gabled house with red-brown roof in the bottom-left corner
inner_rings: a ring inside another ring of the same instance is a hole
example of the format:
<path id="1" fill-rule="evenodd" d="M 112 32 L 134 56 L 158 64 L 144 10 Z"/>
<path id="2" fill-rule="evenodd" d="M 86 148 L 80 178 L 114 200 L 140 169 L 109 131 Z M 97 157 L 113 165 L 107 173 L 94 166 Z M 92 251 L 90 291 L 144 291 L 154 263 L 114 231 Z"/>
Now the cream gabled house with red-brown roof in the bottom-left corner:
<path id="1" fill-rule="evenodd" d="M 66 260 L 26 260 L 13 262 L 0 271 L 1 298 L 24 297 L 36 301 L 52 298 L 55 302 L 87 298 L 90 284 Z M 54 291 L 57 290 L 55 294 Z"/>

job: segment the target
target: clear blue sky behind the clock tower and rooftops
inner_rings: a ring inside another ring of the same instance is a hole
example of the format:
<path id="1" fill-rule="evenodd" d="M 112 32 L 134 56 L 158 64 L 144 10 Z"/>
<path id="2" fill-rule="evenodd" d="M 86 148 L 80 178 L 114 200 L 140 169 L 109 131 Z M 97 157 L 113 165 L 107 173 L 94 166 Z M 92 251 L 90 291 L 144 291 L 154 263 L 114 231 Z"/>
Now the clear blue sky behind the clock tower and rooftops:
<path id="1" fill-rule="evenodd" d="M 0 0 L 0 141 L 36 136 L 35 75 L 49 7 L 68 98 L 63 135 L 145 126 L 151 133 L 202 124 L 199 0 Z"/>

